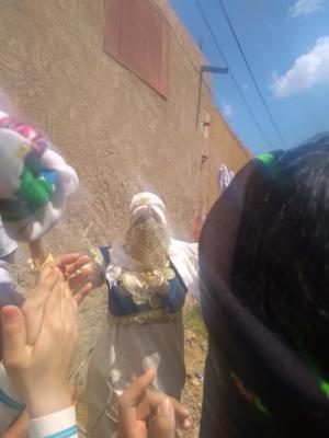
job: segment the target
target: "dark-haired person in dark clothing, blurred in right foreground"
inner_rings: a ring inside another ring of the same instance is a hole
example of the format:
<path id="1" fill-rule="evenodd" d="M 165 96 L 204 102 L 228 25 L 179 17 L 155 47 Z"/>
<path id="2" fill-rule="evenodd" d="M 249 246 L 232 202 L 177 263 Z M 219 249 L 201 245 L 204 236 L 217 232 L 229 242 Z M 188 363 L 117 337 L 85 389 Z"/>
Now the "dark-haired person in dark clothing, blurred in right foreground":
<path id="1" fill-rule="evenodd" d="M 326 436 L 329 139 L 248 163 L 200 244 L 202 437 Z"/>

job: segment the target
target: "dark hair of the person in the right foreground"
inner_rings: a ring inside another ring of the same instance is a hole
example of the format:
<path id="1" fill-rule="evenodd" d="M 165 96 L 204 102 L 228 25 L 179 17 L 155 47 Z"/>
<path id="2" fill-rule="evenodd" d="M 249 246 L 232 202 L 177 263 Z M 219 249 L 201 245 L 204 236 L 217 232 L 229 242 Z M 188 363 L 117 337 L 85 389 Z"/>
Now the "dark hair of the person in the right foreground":
<path id="1" fill-rule="evenodd" d="M 329 374 L 329 139 L 250 177 L 231 266 L 239 300 Z"/>

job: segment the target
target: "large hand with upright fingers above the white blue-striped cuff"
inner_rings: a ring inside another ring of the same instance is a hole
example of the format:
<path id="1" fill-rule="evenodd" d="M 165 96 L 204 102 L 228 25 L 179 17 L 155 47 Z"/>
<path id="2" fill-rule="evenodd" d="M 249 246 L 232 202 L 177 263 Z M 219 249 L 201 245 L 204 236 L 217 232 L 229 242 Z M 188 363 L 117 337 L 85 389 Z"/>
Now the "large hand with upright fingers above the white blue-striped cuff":
<path id="1" fill-rule="evenodd" d="M 45 291 L 47 300 L 39 333 L 26 343 L 26 320 L 19 308 L 1 311 L 3 365 L 35 418 L 71 405 L 68 374 L 77 341 L 77 303 L 56 267 Z"/>

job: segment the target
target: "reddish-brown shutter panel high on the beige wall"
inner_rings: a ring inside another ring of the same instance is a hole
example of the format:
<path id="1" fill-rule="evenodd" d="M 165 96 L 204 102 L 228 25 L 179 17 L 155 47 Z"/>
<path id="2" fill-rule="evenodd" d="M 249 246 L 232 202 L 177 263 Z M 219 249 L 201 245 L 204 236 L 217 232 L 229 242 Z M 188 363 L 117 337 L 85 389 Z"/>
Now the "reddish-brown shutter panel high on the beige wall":
<path id="1" fill-rule="evenodd" d="M 169 25 L 149 0 L 106 0 L 105 51 L 168 96 Z"/>

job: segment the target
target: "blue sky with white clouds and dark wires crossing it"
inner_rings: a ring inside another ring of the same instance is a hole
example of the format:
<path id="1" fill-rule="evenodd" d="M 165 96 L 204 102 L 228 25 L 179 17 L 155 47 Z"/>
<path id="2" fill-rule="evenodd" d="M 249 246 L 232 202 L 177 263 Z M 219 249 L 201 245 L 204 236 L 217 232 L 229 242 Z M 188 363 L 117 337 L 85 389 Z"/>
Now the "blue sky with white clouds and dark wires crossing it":
<path id="1" fill-rule="evenodd" d="M 211 65 L 224 66 L 195 0 L 170 0 Z M 256 92 L 219 0 L 200 0 L 227 61 L 265 131 L 264 140 L 229 76 L 213 76 L 226 120 L 254 153 L 282 148 Z M 274 120 L 293 147 L 329 130 L 329 0 L 224 0 Z"/>

